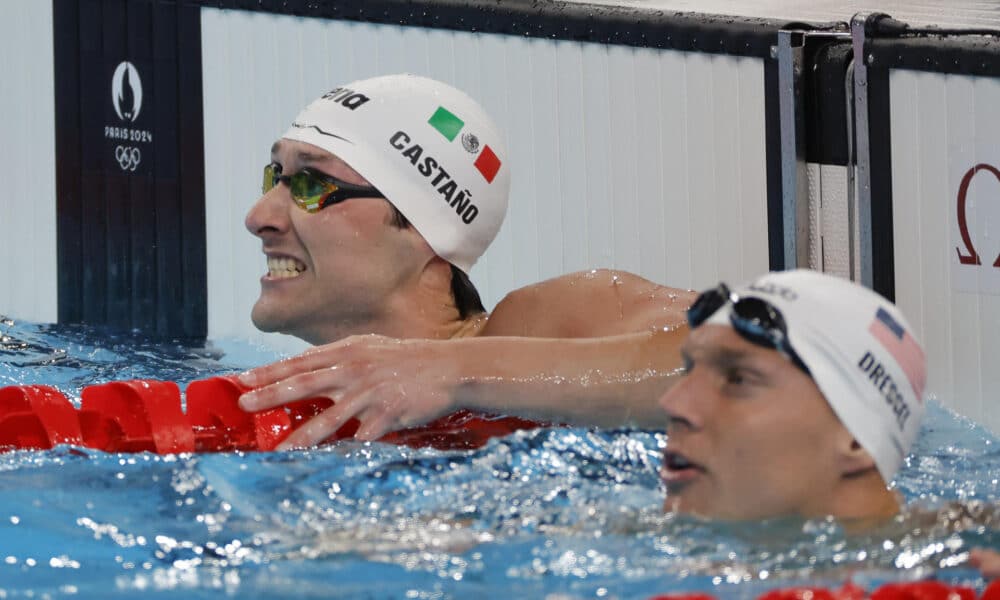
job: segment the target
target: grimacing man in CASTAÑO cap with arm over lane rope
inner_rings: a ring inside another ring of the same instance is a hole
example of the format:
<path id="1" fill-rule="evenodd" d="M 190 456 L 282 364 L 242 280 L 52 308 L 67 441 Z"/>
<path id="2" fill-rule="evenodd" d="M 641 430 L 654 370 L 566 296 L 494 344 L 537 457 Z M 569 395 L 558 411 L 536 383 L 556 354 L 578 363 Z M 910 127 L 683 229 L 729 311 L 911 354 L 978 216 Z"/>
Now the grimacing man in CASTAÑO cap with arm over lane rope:
<path id="1" fill-rule="evenodd" d="M 476 102 L 413 75 L 338 87 L 274 144 L 246 217 L 268 264 L 252 318 L 320 346 L 244 374 L 260 389 L 241 403 L 337 402 L 285 447 L 322 441 L 345 414 L 373 439 L 459 401 L 505 413 L 563 398 L 609 423 L 658 413 L 694 294 L 593 271 L 483 310 L 468 273 L 503 221 L 511 162 Z"/>

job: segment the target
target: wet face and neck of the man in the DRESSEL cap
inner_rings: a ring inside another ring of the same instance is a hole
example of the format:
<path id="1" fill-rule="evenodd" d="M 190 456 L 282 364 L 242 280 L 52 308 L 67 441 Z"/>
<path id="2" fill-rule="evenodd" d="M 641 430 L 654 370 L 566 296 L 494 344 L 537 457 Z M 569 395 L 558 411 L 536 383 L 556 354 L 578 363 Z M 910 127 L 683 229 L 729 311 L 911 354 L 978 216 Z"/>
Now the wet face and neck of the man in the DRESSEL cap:
<path id="1" fill-rule="evenodd" d="M 831 512 L 852 436 L 813 380 L 731 327 L 694 329 L 665 394 L 666 510 L 738 520 Z"/>

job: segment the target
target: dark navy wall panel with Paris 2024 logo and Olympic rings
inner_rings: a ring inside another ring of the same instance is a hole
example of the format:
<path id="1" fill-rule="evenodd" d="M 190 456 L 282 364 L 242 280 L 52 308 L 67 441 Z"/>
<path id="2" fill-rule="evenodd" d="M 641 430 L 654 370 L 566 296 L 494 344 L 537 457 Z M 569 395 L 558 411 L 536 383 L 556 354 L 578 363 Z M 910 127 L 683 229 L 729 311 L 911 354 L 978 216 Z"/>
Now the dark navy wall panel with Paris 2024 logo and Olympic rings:
<path id="1" fill-rule="evenodd" d="M 59 320 L 203 338 L 200 9 L 54 0 L 53 12 Z M 129 73 L 118 95 L 116 69 Z"/>

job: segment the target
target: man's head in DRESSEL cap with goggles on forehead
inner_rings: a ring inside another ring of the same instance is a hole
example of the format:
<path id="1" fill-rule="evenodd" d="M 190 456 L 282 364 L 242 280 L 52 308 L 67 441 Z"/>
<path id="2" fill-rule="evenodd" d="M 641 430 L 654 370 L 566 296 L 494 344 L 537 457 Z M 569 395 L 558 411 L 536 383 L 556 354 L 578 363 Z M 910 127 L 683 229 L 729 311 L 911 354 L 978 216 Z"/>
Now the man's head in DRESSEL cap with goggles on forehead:
<path id="1" fill-rule="evenodd" d="M 721 519 L 898 512 L 925 361 L 885 298 L 814 271 L 720 284 L 688 312 L 668 415 L 665 508 Z"/>

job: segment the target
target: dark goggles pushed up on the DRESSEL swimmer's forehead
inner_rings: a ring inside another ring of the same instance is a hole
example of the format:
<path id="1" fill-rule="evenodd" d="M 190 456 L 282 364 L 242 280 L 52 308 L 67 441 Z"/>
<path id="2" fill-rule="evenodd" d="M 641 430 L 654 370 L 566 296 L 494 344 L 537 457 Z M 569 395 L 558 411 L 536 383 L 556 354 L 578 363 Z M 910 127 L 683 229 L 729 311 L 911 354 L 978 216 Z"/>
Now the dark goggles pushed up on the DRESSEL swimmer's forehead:
<path id="1" fill-rule="evenodd" d="M 716 288 L 702 292 L 694 301 L 687 312 L 688 325 L 691 329 L 695 329 L 727 302 L 733 303 L 729 320 L 736 333 L 758 346 L 777 350 L 788 357 L 796 367 L 812 376 L 809 367 L 802 362 L 788 341 L 788 327 L 785 325 L 785 318 L 781 316 L 781 311 L 766 300 L 741 298 L 729 291 L 726 284 L 720 283 Z"/>

